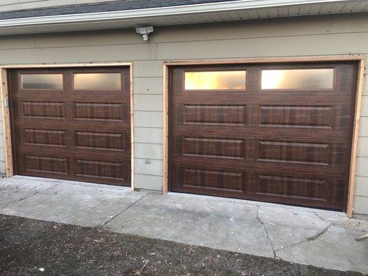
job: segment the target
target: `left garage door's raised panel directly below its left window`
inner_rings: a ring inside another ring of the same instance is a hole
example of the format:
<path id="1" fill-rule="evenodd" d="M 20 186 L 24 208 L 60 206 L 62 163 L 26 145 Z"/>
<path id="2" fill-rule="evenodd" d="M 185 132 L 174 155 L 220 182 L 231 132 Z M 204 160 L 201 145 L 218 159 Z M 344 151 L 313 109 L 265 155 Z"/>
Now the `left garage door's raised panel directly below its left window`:
<path id="1" fill-rule="evenodd" d="M 23 101 L 23 117 L 64 119 L 64 103 L 52 103 L 43 101 Z"/>

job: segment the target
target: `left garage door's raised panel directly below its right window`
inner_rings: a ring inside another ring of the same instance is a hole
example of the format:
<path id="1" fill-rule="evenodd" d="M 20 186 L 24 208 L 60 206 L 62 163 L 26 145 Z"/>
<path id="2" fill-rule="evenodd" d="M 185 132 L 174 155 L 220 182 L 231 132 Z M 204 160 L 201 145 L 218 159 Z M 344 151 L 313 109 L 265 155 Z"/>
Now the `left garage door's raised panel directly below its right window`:
<path id="1" fill-rule="evenodd" d="M 122 103 L 75 103 L 75 119 L 122 121 L 129 115 Z"/>

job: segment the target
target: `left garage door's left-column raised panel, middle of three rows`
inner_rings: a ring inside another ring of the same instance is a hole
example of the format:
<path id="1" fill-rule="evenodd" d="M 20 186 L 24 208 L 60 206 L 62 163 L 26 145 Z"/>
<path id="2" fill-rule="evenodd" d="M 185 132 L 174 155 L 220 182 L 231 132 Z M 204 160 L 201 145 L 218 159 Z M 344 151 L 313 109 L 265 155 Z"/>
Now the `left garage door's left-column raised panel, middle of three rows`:
<path id="1" fill-rule="evenodd" d="M 23 129 L 23 143 L 42 146 L 66 146 L 65 130 Z"/>

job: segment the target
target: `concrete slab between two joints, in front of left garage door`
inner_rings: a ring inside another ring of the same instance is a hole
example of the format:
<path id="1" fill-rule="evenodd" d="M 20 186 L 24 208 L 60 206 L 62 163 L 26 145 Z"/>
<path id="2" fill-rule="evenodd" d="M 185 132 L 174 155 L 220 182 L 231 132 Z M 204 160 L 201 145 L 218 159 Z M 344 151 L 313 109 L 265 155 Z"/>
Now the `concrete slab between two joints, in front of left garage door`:
<path id="1" fill-rule="evenodd" d="M 143 195 L 130 190 L 64 184 L 17 201 L 3 208 L 1 213 L 96 227 L 105 224 Z"/>

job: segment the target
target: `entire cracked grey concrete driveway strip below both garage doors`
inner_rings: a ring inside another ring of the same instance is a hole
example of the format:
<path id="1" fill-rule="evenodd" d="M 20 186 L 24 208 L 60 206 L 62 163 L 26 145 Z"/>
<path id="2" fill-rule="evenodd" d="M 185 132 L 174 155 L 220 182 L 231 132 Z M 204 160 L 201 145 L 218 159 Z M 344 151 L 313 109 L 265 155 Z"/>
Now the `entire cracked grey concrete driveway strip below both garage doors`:
<path id="1" fill-rule="evenodd" d="M 16 176 L 0 213 L 368 273 L 368 221 L 327 210 Z"/>

